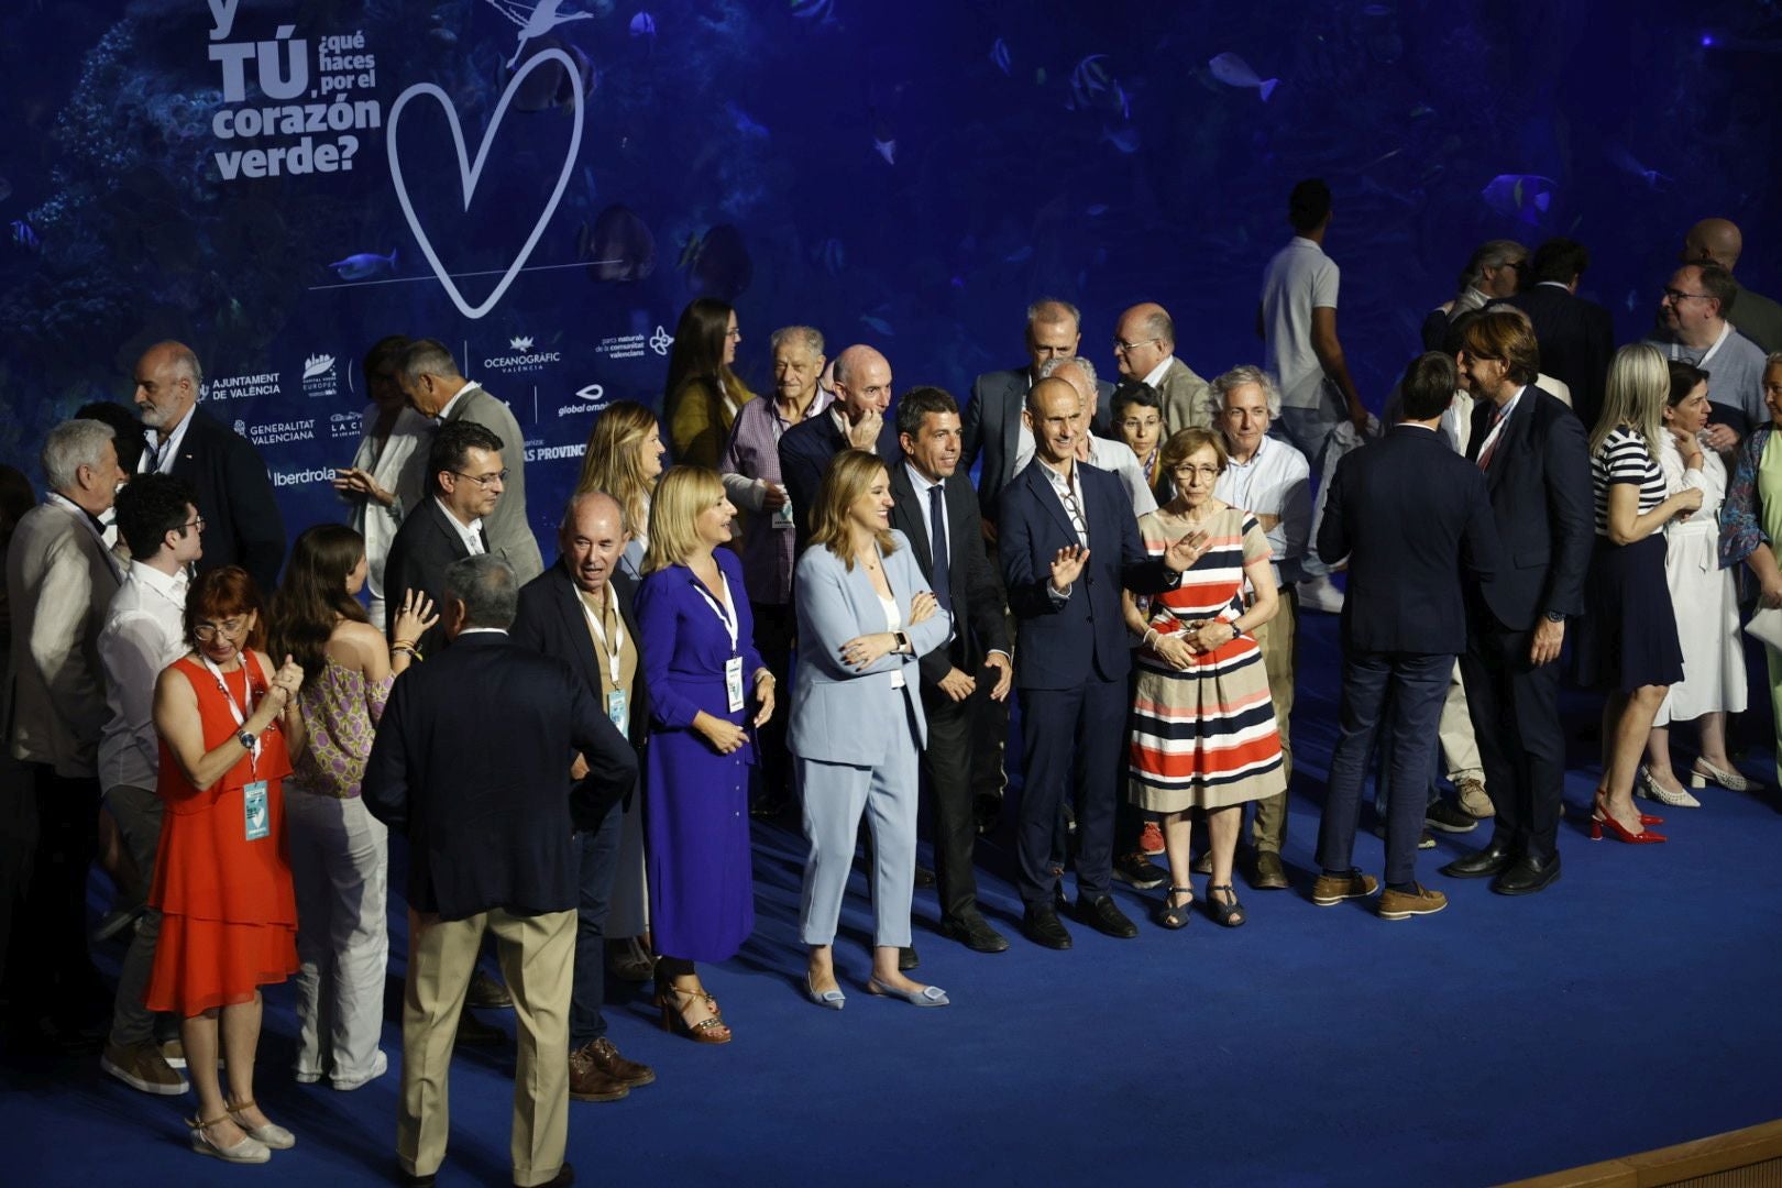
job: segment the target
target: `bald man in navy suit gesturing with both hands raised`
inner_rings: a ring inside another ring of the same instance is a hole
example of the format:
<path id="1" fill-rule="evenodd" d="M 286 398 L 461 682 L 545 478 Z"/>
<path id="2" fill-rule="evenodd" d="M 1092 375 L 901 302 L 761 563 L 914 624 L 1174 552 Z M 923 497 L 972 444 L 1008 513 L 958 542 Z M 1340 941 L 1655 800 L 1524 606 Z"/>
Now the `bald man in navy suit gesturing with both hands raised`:
<path id="1" fill-rule="evenodd" d="M 1071 948 L 1053 907 L 1059 876 L 1051 837 L 1059 805 L 1082 787 L 1076 812 L 1076 912 L 1110 937 L 1139 930 L 1114 905 L 1116 771 L 1126 746 L 1132 648 L 1121 590 L 1174 590 L 1181 570 L 1205 550 L 1183 536 L 1146 556 L 1132 500 L 1107 470 L 1076 461 L 1082 401 L 1064 379 L 1041 379 L 1026 394 L 1034 465 L 1003 488 L 998 536 L 1009 607 L 1018 623 L 1016 686 L 1026 785 L 1021 793 L 1021 933 L 1051 949 Z"/>

